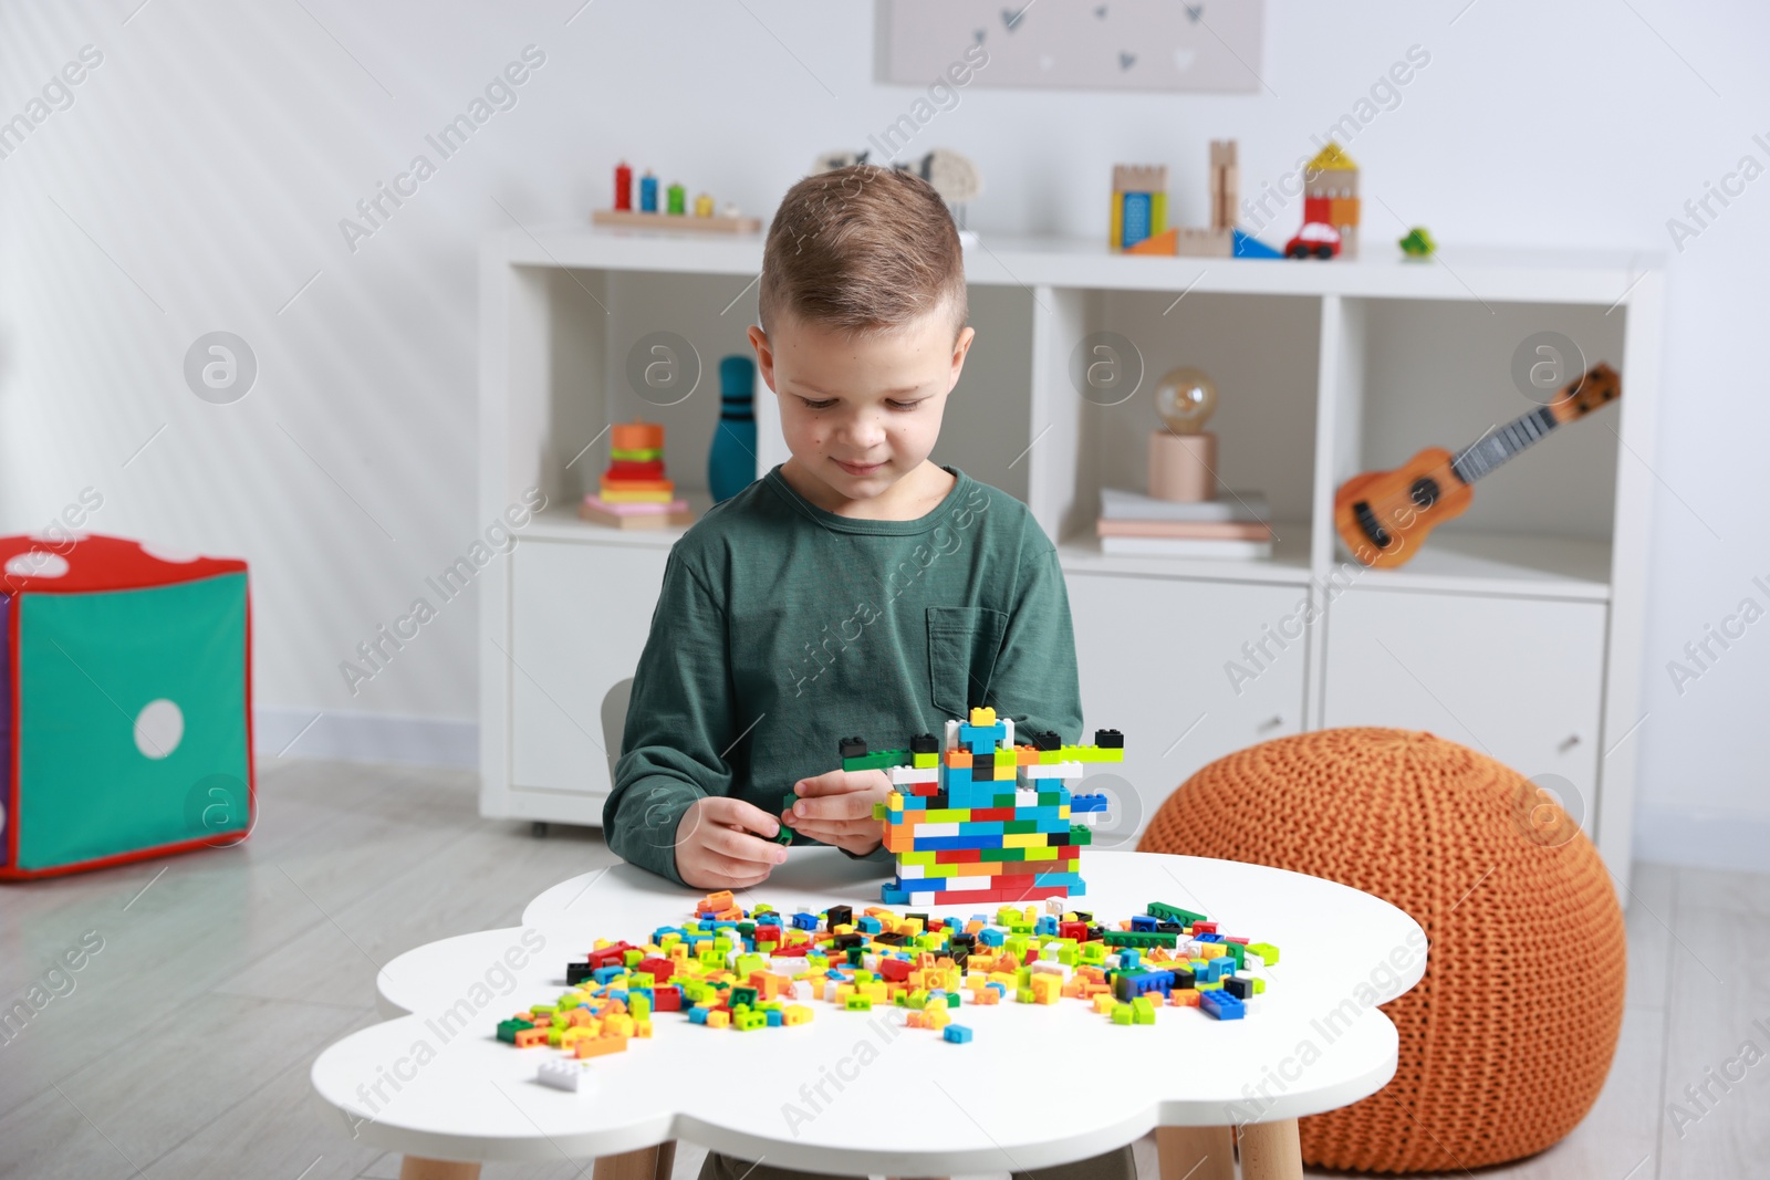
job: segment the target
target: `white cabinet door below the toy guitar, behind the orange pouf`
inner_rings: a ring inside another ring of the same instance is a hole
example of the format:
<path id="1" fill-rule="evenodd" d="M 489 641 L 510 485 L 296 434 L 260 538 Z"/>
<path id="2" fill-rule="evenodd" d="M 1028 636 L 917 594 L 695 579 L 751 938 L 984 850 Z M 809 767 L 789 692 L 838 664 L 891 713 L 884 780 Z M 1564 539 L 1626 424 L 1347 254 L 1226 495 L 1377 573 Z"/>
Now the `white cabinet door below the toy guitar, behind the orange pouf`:
<path id="1" fill-rule="evenodd" d="M 1352 587 L 1328 609 L 1324 725 L 1448 738 L 1549 789 L 1595 833 L 1605 610 Z"/>

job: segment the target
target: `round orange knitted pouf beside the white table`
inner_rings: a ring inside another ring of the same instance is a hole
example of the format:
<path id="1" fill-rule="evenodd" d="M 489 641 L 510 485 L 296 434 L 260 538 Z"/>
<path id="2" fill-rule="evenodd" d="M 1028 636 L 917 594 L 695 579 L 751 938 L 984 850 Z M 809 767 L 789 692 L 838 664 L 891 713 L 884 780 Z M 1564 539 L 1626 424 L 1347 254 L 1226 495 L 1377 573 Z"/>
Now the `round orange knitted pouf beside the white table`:
<path id="1" fill-rule="evenodd" d="M 1497 1164 L 1597 1100 L 1623 1023 L 1623 913 L 1591 840 L 1517 771 L 1405 729 L 1280 738 L 1188 778 L 1138 847 L 1340 881 L 1430 938 L 1425 978 L 1382 1005 L 1395 1077 L 1304 1118 L 1304 1162 Z"/>

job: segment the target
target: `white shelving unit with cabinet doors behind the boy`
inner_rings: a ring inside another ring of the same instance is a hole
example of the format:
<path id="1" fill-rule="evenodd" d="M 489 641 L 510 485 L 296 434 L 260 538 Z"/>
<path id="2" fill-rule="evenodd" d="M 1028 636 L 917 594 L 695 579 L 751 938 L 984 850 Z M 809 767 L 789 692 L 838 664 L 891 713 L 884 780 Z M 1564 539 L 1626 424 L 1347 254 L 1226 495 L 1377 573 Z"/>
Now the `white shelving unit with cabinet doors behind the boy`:
<path id="1" fill-rule="evenodd" d="M 481 510 L 540 487 L 549 511 L 481 579 L 481 812 L 600 823 L 602 697 L 632 674 L 678 533 L 579 522 L 611 421 L 667 426 L 671 476 L 704 488 L 717 359 L 749 352 L 761 237 L 561 228 L 481 253 Z M 1386 253 L 1381 248 L 1366 251 Z M 1122 729 L 1129 828 L 1198 766 L 1324 725 L 1430 729 L 1565 796 L 1627 877 L 1660 366 L 1655 257 L 1446 251 L 1435 262 L 1115 257 L 1094 241 L 966 251 L 977 343 L 935 458 L 1021 497 L 1067 571 L 1087 727 Z M 1089 333 L 1129 338 L 1145 384 L 1103 407 L 1069 384 Z M 643 402 L 628 350 L 689 340 L 704 375 Z M 1533 407 L 1517 345 L 1558 331 L 1623 375 L 1618 405 L 1474 488 L 1398 570 L 1338 545 L 1333 492 Z M 1220 479 L 1267 495 L 1271 559 L 1108 557 L 1099 488 L 1143 487 L 1147 389 L 1197 364 L 1221 391 Z M 758 386 L 759 464 L 786 458 Z M 704 497 L 704 492 L 701 492 Z M 704 499 L 703 499 L 704 504 Z M 1301 624 L 1299 609 L 1319 619 Z M 1232 662 L 1243 674 L 1232 676 Z M 1526 839 L 1520 831 L 1520 839 Z"/>

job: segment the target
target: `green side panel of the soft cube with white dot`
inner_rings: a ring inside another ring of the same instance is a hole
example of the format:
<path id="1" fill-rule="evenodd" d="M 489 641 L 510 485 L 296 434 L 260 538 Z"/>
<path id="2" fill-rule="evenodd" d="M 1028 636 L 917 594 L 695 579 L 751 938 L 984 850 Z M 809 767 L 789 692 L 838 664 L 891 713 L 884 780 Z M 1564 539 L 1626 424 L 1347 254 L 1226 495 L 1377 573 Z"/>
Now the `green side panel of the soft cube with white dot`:
<path id="1" fill-rule="evenodd" d="M 244 573 L 16 605 L 21 869 L 246 828 Z M 158 699 L 184 736 L 154 759 L 135 727 Z"/>

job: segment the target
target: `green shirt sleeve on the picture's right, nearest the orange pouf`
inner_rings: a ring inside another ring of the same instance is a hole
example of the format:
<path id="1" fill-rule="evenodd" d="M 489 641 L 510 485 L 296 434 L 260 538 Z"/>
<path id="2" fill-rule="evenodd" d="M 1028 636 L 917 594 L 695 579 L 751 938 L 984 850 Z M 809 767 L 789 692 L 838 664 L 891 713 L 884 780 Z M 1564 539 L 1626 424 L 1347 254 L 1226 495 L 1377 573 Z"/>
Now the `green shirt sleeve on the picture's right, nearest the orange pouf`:
<path id="1" fill-rule="evenodd" d="M 1037 548 L 1020 564 L 1020 594 L 989 678 L 989 695 L 997 713 L 1014 718 L 1014 741 L 1050 729 L 1073 743 L 1081 738 L 1081 674 L 1069 591 L 1057 548 L 1043 533 L 1035 541 Z"/>

